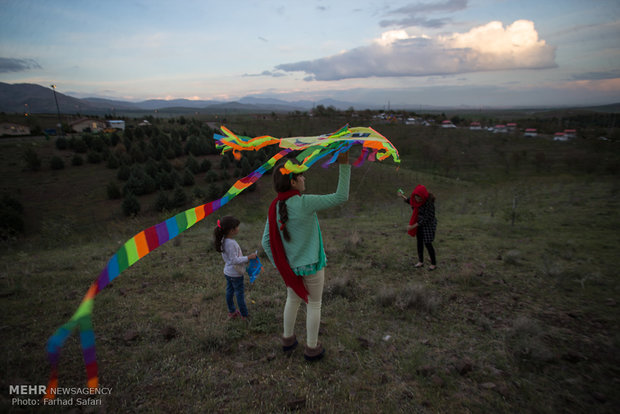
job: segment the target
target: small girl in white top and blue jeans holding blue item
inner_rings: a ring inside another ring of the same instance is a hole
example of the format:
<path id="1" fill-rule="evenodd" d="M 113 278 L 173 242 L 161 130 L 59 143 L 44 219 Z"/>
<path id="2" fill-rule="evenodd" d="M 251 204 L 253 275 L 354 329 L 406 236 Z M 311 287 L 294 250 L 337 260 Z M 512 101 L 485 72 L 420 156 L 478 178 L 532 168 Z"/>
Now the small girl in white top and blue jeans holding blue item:
<path id="1" fill-rule="evenodd" d="M 243 266 L 250 259 L 256 259 L 256 253 L 244 256 L 239 244 L 233 239 L 239 233 L 241 222 L 233 216 L 222 217 L 217 221 L 217 226 L 213 230 L 215 250 L 222 253 L 224 259 L 224 276 L 226 276 L 226 305 L 228 306 L 228 319 L 241 316 L 241 319 L 248 317 L 248 308 L 245 305 L 245 293 L 243 285 Z M 233 296 L 237 297 L 237 306 Z"/>

